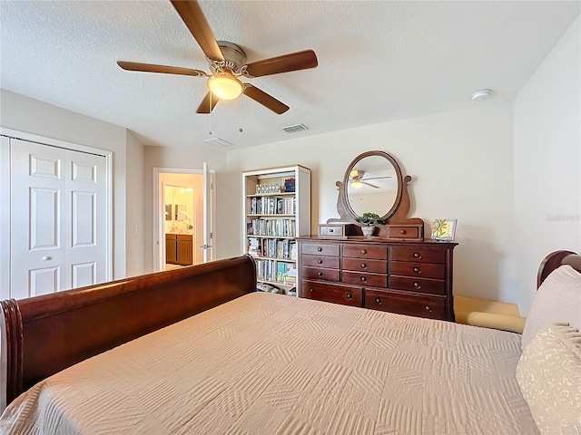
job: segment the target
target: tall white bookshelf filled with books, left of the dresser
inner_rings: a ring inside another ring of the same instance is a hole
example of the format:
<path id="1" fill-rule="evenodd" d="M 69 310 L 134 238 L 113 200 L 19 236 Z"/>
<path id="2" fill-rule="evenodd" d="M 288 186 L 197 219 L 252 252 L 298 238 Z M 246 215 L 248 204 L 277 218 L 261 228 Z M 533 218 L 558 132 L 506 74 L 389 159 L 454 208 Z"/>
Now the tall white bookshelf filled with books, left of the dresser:
<path id="1" fill-rule="evenodd" d="M 258 282 L 297 295 L 296 237 L 310 235 L 310 169 L 300 165 L 242 172 L 242 246 Z"/>

